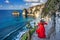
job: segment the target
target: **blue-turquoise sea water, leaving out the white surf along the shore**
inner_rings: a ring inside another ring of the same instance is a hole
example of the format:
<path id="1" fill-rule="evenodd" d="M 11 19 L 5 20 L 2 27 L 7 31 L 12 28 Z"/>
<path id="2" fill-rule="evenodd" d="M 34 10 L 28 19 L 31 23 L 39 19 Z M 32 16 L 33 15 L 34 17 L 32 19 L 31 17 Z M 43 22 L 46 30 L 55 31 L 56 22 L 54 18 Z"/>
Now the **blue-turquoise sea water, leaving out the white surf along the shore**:
<path id="1" fill-rule="evenodd" d="M 12 31 L 17 30 L 16 32 L 12 33 L 11 36 L 5 40 L 11 40 L 14 35 L 16 36 L 18 32 L 25 30 L 23 27 L 27 24 L 29 20 L 32 18 L 24 18 L 22 16 L 22 10 L 16 10 L 20 12 L 19 17 L 15 17 L 12 15 L 12 12 L 15 10 L 0 10 L 0 40 L 6 37 Z"/>

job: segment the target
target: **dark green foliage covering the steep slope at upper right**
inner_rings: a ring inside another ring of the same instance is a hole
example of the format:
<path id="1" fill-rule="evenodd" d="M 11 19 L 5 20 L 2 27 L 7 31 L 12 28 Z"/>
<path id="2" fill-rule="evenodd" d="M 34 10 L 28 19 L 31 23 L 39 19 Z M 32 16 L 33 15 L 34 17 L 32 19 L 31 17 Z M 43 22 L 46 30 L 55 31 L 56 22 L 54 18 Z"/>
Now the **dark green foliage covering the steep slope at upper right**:
<path id="1" fill-rule="evenodd" d="M 43 10 L 43 16 L 51 16 L 53 12 L 58 10 L 57 5 L 60 3 L 60 0 L 48 0 L 45 4 L 45 8 Z M 51 13 L 49 13 L 51 12 Z"/>

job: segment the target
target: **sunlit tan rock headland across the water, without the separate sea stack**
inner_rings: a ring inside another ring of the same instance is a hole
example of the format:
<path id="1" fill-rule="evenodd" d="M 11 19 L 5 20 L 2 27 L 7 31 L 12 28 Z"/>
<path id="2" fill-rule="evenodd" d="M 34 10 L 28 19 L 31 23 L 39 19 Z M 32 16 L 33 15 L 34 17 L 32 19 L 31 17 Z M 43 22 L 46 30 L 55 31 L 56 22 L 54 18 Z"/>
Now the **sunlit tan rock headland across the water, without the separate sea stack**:
<path id="1" fill-rule="evenodd" d="M 35 18 L 38 18 L 38 17 L 41 16 L 41 13 L 42 13 L 42 10 L 43 10 L 44 6 L 45 6 L 44 4 L 41 4 L 41 5 L 30 7 L 28 9 L 28 13 L 33 14 L 33 16 Z"/>

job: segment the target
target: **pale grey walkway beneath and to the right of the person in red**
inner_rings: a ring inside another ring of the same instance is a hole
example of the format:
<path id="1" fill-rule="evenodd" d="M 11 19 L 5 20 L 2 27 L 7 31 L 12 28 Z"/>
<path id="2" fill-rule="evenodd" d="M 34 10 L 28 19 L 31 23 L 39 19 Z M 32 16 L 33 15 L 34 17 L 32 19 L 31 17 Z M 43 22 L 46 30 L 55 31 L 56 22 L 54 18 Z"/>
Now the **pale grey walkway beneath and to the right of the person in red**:
<path id="1" fill-rule="evenodd" d="M 52 25 L 53 25 L 52 22 L 53 21 L 50 21 L 48 23 L 47 27 L 46 27 L 46 35 L 47 35 L 47 37 L 48 37 L 48 34 L 51 31 L 51 28 L 52 28 Z M 49 39 L 40 39 L 40 38 L 37 37 L 36 32 L 34 32 L 33 35 L 32 35 L 32 39 L 31 40 L 60 40 L 60 18 L 59 17 L 56 17 L 56 27 L 55 27 L 55 30 L 56 30 L 56 32 L 53 32 L 50 35 Z"/>

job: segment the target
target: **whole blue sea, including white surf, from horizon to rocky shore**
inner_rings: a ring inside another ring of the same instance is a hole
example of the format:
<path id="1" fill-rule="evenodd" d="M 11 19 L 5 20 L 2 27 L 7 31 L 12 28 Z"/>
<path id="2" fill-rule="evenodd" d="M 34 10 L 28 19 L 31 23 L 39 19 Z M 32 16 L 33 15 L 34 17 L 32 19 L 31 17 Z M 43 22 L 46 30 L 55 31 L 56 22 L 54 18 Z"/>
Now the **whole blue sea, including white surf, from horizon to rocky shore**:
<path id="1" fill-rule="evenodd" d="M 20 16 L 13 16 L 18 11 Z M 0 10 L 0 40 L 21 40 L 21 36 L 28 31 L 26 24 L 32 17 L 23 17 L 23 10 Z"/>

